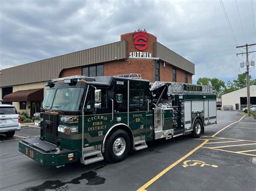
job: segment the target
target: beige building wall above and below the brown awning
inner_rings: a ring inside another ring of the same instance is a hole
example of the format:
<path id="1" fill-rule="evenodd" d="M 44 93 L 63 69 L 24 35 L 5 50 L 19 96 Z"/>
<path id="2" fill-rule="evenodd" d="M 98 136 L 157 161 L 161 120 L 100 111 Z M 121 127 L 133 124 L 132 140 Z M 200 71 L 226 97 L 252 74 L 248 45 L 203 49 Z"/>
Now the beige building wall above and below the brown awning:
<path id="1" fill-rule="evenodd" d="M 36 82 L 36 83 L 27 83 L 27 84 L 21 84 L 14 86 L 13 92 L 19 91 L 19 90 L 29 90 L 29 89 L 44 89 L 45 94 L 45 83 L 46 82 Z M 19 102 L 12 102 L 12 105 L 15 106 L 18 112 L 25 112 L 28 116 L 30 116 L 30 101 L 26 101 L 26 109 L 19 109 Z"/>

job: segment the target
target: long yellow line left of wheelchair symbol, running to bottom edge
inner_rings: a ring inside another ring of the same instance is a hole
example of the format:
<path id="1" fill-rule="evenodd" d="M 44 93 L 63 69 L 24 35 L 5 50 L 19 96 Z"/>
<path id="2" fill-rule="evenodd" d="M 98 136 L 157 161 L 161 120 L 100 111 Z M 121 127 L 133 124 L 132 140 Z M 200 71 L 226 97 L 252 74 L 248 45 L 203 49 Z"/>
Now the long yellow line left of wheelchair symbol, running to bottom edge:
<path id="1" fill-rule="evenodd" d="M 170 169 L 172 169 L 174 166 L 178 165 L 181 161 L 183 161 L 184 159 L 186 159 L 187 157 L 189 157 L 191 154 L 193 154 L 194 152 L 196 152 L 200 147 L 202 147 L 204 144 L 206 144 L 208 142 L 208 140 L 205 140 L 205 142 L 203 142 L 202 144 L 200 144 L 198 147 L 194 148 L 192 151 L 190 151 L 189 153 L 187 153 L 186 155 L 184 155 L 183 157 L 181 157 L 179 160 L 177 160 L 176 162 L 174 162 L 172 165 L 170 165 L 169 167 L 165 168 L 163 171 L 161 171 L 159 174 L 157 174 L 156 176 L 154 176 L 154 178 L 152 178 L 150 181 L 146 182 L 142 187 L 140 187 L 138 190 L 146 190 L 147 187 L 149 187 L 150 185 L 152 185 L 152 183 L 154 183 L 157 179 L 159 179 L 161 176 L 163 176 L 166 172 L 170 171 Z"/>

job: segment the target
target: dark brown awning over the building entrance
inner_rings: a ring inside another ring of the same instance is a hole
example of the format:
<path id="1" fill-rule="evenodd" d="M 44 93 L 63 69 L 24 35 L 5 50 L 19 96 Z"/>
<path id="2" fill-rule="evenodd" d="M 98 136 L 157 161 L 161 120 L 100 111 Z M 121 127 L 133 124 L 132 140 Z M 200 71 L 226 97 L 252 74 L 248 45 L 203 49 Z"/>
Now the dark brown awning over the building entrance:
<path id="1" fill-rule="evenodd" d="M 3 97 L 4 102 L 20 102 L 20 101 L 43 101 L 44 89 L 29 89 L 15 91 Z"/>

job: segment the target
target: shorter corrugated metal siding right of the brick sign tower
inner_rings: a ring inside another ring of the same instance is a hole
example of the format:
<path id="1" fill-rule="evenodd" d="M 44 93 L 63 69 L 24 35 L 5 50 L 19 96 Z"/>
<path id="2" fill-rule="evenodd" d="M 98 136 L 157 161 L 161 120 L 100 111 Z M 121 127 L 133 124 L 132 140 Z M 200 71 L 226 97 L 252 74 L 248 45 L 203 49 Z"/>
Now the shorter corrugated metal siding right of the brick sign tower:
<path id="1" fill-rule="evenodd" d="M 160 43 L 154 44 L 154 56 L 170 63 L 173 66 L 194 74 L 194 64 L 192 62 L 186 60 Z"/>

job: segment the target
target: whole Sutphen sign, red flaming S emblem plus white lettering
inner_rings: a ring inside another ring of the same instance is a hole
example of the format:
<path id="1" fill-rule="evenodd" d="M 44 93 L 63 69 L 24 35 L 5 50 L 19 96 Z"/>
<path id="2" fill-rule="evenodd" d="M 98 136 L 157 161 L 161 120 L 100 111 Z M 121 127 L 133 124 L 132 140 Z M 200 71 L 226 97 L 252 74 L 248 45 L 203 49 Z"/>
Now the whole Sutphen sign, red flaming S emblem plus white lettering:
<path id="1" fill-rule="evenodd" d="M 130 52 L 130 58 L 152 58 L 151 52 L 141 52 L 145 51 L 149 46 L 147 31 L 138 30 L 134 31 L 133 34 L 134 47 L 138 49 L 138 52 Z"/>

